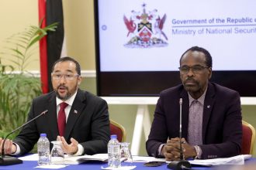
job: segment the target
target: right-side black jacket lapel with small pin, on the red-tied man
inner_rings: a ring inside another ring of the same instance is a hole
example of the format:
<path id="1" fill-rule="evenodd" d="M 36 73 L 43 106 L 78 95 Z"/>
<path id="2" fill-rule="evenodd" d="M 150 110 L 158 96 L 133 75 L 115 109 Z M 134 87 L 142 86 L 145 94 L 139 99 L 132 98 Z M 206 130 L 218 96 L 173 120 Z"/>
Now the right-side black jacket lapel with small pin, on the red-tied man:
<path id="1" fill-rule="evenodd" d="M 82 114 L 82 110 L 85 108 L 85 93 L 78 89 L 77 96 L 74 98 L 70 113 L 67 118 L 67 124 L 65 128 L 64 138 L 67 140 L 71 135 L 71 131 L 74 127 L 78 117 Z"/>

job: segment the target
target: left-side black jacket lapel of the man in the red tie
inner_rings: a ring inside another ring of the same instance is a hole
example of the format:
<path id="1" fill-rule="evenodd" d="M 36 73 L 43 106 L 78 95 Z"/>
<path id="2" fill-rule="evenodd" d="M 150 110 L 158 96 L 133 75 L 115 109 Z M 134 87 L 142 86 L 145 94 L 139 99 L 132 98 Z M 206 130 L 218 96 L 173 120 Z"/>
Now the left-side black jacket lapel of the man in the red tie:
<path id="1" fill-rule="evenodd" d="M 57 138 L 59 131 L 57 129 L 57 106 L 56 106 L 56 96 L 55 93 L 52 93 L 49 104 L 48 104 L 48 113 L 49 113 L 49 121 L 45 122 L 46 124 L 49 123 L 50 125 L 50 133 L 53 137 Z M 54 139 L 56 140 L 56 139 Z"/>

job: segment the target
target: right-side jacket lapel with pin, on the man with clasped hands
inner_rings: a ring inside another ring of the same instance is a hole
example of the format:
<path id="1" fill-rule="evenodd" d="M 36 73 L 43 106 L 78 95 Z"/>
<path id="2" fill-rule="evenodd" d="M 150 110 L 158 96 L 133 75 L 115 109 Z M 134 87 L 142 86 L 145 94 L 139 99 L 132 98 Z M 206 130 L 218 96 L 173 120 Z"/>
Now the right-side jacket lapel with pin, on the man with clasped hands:
<path id="1" fill-rule="evenodd" d="M 215 90 L 212 83 L 209 83 L 206 91 L 206 98 L 203 104 L 203 115 L 202 115 L 202 143 L 205 143 L 206 128 L 209 123 L 209 117 L 212 114 L 213 104 L 215 102 Z"/>

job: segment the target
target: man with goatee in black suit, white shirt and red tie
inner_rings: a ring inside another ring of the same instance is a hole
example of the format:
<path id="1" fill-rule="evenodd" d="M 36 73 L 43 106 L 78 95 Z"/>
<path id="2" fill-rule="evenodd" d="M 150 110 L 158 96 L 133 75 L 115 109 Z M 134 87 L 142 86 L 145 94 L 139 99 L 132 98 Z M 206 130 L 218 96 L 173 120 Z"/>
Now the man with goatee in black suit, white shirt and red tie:
<path id="1" fill-rule="evenodd" d="M 44 110 L 48 110 L 47 114 L 26 125 L 13 142 L 7 140 L 5 153 L 23 155 L 31 151 L 41 133 L 47 134 L 49 141 L 62 141 L 69 155 L 106 153 L 110 135 L 108 106 L 105 100 L 78 88 L 79 63 L 71 57 L 58 59 L 51 76 L 54 91 L 33 100 L 28 121 Z"/>

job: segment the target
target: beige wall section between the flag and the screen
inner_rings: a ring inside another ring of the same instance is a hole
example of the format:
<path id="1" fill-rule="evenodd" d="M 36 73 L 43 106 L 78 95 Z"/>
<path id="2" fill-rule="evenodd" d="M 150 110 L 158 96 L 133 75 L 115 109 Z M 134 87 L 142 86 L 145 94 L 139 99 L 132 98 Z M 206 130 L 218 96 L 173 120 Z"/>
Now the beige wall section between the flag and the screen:
<path id="1" fill-rule="evenodd" d="M 93 0 L 64 0 L 67 54 L 81 63 L 82 70 L 95 70 Z"/>

